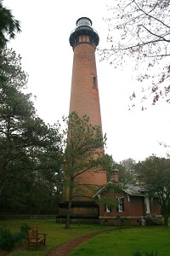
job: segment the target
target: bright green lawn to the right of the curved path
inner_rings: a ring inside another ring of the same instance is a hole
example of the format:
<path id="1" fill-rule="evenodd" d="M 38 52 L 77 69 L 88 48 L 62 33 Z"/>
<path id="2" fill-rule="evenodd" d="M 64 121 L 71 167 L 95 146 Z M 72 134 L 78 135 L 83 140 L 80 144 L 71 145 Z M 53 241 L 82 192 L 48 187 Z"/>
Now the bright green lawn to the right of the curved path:
<path id="1" fill-rule="evenodd" d="M 145 255 L 152 251 L 154 255 L 157 252 L 158 256 L 167 256 L 170 252 L 169 229 L 152 226 L 110 231 L 82 242 L 69 256 L 133 256 L 135 252 Z"/>

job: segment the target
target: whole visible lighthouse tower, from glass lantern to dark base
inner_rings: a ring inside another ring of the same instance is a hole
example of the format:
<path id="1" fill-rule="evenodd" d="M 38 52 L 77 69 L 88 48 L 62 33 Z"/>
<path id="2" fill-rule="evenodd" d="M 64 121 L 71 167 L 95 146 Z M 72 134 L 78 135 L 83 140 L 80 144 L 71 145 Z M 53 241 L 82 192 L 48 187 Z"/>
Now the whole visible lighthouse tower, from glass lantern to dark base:
<path id="1" fill-rule="evenodd" d="M 76 24 L 77 26 L 71 32 L 69 39 L 74 51 L 70 113 L 76 111 L 80 117 L 86 114 L 91 125 L 102 127 L 95 61 L 95 49 L 99 44 L 99 35 L 92 27 L 92 20 L 87 17 L 78 19 Z M 107 182 L 106 172 L 92 172 L 84 172 L 79 177 L 79 183 L 99 187 Z M 98 218 L 98 207 L 92 199 L 89 200 L 92 196 L 93 192 L 89 191 L 88 197 L 72 202 L 72 218 Z M 64 191 L 64 201 L 59 204 L 59 215 L 63 215 L 63 217 L 68 201 L 67 197 L 68 195 Z"/>

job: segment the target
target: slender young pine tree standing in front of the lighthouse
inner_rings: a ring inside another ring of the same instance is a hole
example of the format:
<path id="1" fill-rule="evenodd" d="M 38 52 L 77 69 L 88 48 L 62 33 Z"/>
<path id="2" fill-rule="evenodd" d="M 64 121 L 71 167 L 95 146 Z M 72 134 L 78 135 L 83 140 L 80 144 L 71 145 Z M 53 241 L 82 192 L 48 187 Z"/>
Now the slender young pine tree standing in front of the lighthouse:
<path id="1" fill-rule="evenodd" d="M 88 196 L 88 189 L 94 189 L 87 184 L 79 182 L 83 173 L 101 167 L 104 157 L 105 137 L 103 138 L 101 127 L 89 123 L 89 117 L 82 118 L 76 112 L 72 112 L 64 119 L 65 129 L 65 189 L 68 189 L 69 203 L 65 228 L 70 228 L 71 203 L 74 197 Z M 102 169 L 103 170 L 103 169 Z"/>

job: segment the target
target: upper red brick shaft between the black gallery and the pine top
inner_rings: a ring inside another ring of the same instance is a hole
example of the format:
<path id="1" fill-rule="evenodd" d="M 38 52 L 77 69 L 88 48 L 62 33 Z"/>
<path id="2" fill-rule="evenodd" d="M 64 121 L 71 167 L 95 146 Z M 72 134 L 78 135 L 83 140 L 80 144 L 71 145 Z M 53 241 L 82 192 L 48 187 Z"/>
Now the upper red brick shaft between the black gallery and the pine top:
<path id="1" fill-rule="evenodd" d="M 91 44 L 78 44 L 74 49 L 70 113 L 77 111 L 79 116 L 87 114 L 92 125 L 102 126 L 99 84 L 96 90 L 94 76 L 97 76 L 95 47 Z"/>

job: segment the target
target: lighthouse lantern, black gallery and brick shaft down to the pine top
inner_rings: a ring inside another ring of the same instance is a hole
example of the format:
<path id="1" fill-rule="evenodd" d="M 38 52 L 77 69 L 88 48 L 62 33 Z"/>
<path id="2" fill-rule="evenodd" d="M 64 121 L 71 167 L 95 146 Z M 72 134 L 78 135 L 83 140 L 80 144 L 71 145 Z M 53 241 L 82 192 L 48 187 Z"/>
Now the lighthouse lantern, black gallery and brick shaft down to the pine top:
<path id="1" fill-rule="evenodd" d="M 77 111 L 79 116 L 87 114 L 92 125 L 101 126 L 99 105 L 99 85 L 95 61 L 95 49 L 99 35 L 88 18 L 77 20 L 76 29 L 71 32 L 70 44 L 74 51 L 70 113 Z"/>

